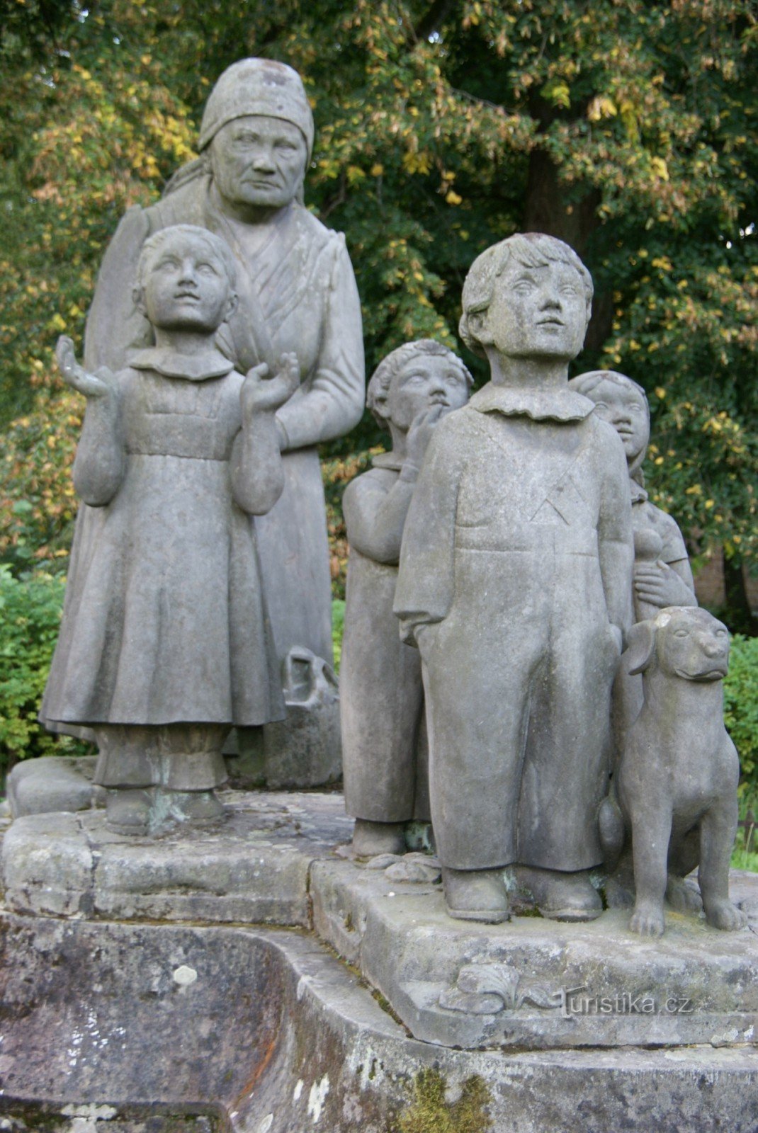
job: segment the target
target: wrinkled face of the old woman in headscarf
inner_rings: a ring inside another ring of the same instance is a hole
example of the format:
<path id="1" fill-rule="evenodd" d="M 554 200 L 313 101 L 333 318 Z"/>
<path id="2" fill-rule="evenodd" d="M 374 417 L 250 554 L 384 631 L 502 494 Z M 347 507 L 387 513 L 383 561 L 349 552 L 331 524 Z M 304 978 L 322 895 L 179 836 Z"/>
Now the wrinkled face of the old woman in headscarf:
<path id="1" fill-rule="evenodd" d="M 229 204 L 281 208 L 293 199 L 308 156 L 291 122 L 247 114 L 222 126 L 211 143 L 211 168 Z"/>

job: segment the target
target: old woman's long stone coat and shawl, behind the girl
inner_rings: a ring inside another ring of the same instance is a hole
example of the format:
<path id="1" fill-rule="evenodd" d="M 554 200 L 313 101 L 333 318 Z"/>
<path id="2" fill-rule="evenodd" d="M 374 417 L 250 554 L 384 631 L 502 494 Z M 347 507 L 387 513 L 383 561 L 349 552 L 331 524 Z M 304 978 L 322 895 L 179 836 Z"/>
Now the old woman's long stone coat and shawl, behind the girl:
<path id="1" fill-rule="evenodd" d="M 191 167 L 190 167 L 191 168 Z M 171 224 L 197 224 L 221 236 L 237 261 L 239 307 L 219 346 L 245 374 L 283 352 L 297 353 L 301 382 L 276 419 L 286 485 L 255 533 L 276 653 L 305 646 L 331 661 L 331 581 L 324 493 L 316 445 L 348 433 L 364 407 L 360 303 L 344 238 L 297 202 L 266 224 L 230 221 L 205 172 L 177 180 L 150 208 L 126 213 L 105 253 L 87 320 L 85 365 L 128 365 L 151 344 L 133 289 L 147 237 Z M 93 521 L 84 506 L 79 523 Z"/>

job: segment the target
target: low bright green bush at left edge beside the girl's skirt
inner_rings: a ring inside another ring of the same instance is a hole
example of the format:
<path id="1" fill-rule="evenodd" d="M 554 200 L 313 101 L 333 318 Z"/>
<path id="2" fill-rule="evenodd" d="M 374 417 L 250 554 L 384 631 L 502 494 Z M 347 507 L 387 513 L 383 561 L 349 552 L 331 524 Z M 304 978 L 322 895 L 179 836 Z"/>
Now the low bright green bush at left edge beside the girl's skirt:
<path id="1" fill-rule="evenodd" d="M 65 582 L 46 573 L 14 578 L 0 566 L 0 772 L 19 759 L 74 755 L 83 746 L 60 740 L 37 722 L 63 604 Z"/>

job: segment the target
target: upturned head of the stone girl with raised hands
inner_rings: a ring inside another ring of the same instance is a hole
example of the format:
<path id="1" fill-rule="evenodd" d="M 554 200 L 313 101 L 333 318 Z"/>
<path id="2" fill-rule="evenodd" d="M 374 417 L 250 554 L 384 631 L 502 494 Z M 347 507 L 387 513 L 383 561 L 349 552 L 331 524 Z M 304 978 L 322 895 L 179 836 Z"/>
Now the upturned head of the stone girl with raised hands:
<path id="1" fill-rule="evenodd" d="M 235 284 L 228 245 L 207 229 L 174 224 L 145 240 L 134 301 L 153 326 L 212 333 L 237 306 Z"/>

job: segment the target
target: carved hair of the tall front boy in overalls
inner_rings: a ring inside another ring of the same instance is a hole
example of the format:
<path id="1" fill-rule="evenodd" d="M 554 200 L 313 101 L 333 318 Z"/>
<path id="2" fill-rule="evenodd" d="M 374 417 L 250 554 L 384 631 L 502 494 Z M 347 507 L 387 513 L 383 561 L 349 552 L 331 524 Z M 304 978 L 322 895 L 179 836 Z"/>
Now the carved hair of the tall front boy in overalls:
<path id="1" fill-rule="evenodd" d="M 587 320 L 593 305 L 593 278 L 581 259 L 568 244 L 554 236 L 543 232 L 517 232 L 500 244 L 493 244 L 483 252 L 469 267 L 463 282 L 461 304 L 463 314 L 459 324 L 459 333 L 466 346 L 474 353 L 484 357 L 484 349 L 475 331 L 469 324 L 471 315 L 488 309 L 495 292 L 495 280 L 503 274 L 511 257 L 525 267 L 546 267 L 556 261 L 569 264 L 581 279 L 587 299 Z"/>

